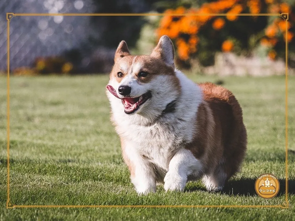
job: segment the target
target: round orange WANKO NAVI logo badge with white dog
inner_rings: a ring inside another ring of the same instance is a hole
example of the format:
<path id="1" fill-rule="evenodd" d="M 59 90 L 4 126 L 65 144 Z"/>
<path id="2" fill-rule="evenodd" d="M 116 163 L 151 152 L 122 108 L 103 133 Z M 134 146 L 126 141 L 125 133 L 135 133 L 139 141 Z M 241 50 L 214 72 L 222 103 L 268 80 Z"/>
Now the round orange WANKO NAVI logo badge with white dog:
<path id="1" fill-rule="evenodd" d="M 280 183 L 273 174 L 260 174 L 255 181 L 255 191 L 258 196 L 271 199 L 278 194 Z"/>

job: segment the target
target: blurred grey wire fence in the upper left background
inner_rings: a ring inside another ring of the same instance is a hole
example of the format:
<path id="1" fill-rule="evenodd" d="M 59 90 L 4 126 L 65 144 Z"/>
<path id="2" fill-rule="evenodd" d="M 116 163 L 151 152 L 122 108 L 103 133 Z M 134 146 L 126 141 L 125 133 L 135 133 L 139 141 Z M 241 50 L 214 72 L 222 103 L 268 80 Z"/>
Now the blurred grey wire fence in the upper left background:
<path id="1" fill-rule="evenodd" d="M 6 13 L 91 13 L 90 0 L 0 1 L 0 70 L 6 70 Z M 87 47 L 88 16 L 16 16 L 10 21 L 10 69 L 30 67 L 37 57 Z M 85 45 L 86 44 L 86 45 Z M 90 44 L 90 43 L 88 43 Z M 88 45 L 89 46 L 89 45 Z M 89 46 L 90 47 L 90 46 Z M 87 55 L 82 65 L 89 64 Z"/>

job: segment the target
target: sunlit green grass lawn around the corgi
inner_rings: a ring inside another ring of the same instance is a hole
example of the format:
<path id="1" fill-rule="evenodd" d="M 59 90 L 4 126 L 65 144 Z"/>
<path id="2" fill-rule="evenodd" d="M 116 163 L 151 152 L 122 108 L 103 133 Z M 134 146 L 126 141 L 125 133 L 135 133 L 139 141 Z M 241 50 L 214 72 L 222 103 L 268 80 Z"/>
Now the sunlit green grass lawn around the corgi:
<path id="1" fill-rule="evenodd" d="M 218 77 L 191 75 L 195 81 Z M 109 122 L 108 76 L 10 78 L 10 202 L 15 205 L 282 205 L 285 202 L 285 77 L 222 77 L 239 100 L 248 131 L 242 171 L 221 193 L 201 182 L 185 192 L 137 196 Z M 15 208 L 6 207 L 6 78 L 0 78 L 0 220 L 268 220 L 293 219 L 295 77 L 289 77 L 289 209 L 281 208 Z M 254 190 L 262 173 L 280 192 Z"/>

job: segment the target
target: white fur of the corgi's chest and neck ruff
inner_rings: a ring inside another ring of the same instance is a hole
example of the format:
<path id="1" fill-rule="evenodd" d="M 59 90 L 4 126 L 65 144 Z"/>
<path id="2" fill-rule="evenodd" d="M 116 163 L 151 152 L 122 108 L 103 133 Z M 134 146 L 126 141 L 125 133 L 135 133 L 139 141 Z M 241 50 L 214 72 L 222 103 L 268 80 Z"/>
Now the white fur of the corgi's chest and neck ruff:
<path id="1" fill-rule="evenodd" d="M 144 156 L 166 171 L 175 151 L 194 138 L 196 112 L 202 99 L 201 90 L 195 83 L 178 70 L 176 76 L 181 85 L 176 110 L 166 113 L 151 126 L 141 124 L 143 118 L 138 114 L 129 116 L 122 108 L 117 108 L 122 105 L 119 99 L 114 96 L 110 99 L 116 130 L 124 138 L 127 155 L 130 158 Z"/>

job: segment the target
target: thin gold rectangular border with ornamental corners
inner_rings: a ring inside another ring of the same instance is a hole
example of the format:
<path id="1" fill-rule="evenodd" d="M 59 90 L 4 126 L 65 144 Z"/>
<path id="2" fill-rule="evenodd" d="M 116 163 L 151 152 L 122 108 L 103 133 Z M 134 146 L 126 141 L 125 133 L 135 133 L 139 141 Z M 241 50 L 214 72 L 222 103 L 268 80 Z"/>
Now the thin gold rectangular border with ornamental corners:
<path id="1" fill-rule="evenodd" d="M 13 17 L 16 16 L 150 16 L 150 15 L 165 15 L 165 13 L 6 13 L 7 19 L 7 201 L 6 208 L 42 208 L 42 207 L 51 207 L 51 208 L 90 208 L 90 207 L 101 207 L 101 208 L 110 208 L 110 207 L 144 207 L 144 208 L 169 208 L 169 207 L 177 207 L 177 208 L 262 208 L 262 207 L 277 207 L 286 209 L 289 208 L 289 200 L 288 200 L 288 40 L 286 40 L 286 202 L 282 205 L 15 205 L 10 202 L 9 198 L 9 22 Z M 196 13 L 172 13 L 170 15 L 194 15 L 194 16 L 226 16 L 227 13 L 205 13 L 205 14 L 196 14 Z M 242 14 L 231 14 L 235 16 L 279 16 L 282 17 L 285 22 L 288 22 L 289 13 L 276 13 L 276 14 L 268 14 L 268 13 L 242 13 Z M 286 36 L 288 36 L 288 25 L 286 25 Z M 254 187 L 254 186 L 253 186 Z"/>

